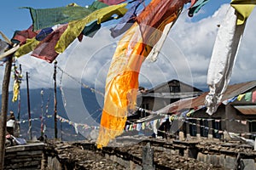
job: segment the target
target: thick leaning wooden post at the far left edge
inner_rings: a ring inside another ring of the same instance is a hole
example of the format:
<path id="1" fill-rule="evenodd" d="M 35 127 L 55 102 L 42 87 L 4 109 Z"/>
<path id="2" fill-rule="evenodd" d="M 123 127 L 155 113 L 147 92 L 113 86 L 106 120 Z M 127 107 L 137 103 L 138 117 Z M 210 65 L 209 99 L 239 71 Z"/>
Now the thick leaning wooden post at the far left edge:
<path id="1" fill-rule="evenodd" d="M 9 79 L 12 68 L 12 55 L 9 56 L 8 61 L 5 64 L 5 71 L 3 77 L 3 88 L 2 88 L 2 110 L 0 119 L 0 169 L 4 166 L 4 156 L 5 156 L 5 135 L 6 135 L 6 121 L 7 121 L 7 111 L 9 102 Z"/>

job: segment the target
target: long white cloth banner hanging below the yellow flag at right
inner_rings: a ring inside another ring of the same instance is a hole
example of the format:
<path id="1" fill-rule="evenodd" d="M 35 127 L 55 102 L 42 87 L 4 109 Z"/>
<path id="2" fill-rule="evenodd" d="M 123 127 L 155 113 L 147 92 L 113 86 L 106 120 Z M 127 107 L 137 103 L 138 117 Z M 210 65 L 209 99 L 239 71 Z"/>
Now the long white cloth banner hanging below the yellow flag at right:
<path id="1" fill-rule="evenodd" d="M 246 22 L 243 25 L 236 25 L 236 19 L 236 9 L 230 6 L 224 21 L 219 26 L 212 50 L 212 59 L 207 75 L 210 92 L 205 101 L 209 115 L 218 109 L 218 104 L 230 82 L 236 52 L 246 25 Z"/>

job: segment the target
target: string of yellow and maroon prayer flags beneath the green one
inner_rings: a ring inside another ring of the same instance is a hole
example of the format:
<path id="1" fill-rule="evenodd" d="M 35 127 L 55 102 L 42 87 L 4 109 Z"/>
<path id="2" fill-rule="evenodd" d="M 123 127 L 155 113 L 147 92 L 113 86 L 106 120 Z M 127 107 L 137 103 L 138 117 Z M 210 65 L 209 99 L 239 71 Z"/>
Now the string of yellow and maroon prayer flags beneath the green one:
<path id="1" fill-rule="evenodd" d="M 101 22 L 109 20 L 113 14 L 123 16 L 127 11 L 125 5 L 126 4 L 120 4 L 97 9 L 82 20 L 71 21 L 68 24 L 54 26 L 52 27 L 53 31 L 48 28 L 48 35 L 46 37 L 42 37 L 45 30 L 38 35 L 39 39 L 42 40 L 41 42 L 38 41 L 38 37 L 36 37 L 40 31 L 38 31 L 38 33 L 34 32 L 34 34 L 30 36 L 31 32 L 33 32 L 32 28 L 30 28 L 25 31 L 26 36 L 23 39 L 20 38 L 20 42 L 22 40 L 22 43 L 26 43 L 15 52 L 15 57 L 20 57 L 34 50 L 32 56 L 39 59 L 45 59 L 51 63 L 76 37 L 79 37 L 80 41 L 82 40 L 82 34 L 92 37 L 100 28 L 100 26 L 97 25 Z M 94 20 L 97 20 L 97 22 L 92 22 Z M 86 26 L 87 24 L 90 25 Z M 49 33 L 49 31 L 51 32 Z M 18 39 L 16 37 L 17 36 L 13 39 Z"/>

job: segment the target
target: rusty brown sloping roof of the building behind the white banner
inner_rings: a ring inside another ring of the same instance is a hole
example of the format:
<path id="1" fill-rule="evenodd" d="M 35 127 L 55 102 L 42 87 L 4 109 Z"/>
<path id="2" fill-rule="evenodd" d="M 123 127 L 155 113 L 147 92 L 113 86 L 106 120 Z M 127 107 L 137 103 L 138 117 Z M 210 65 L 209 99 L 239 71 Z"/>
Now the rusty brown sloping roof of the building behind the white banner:
<path id="1" fill-rule="evenodd" d="M 236 97 L 239 94 L 244 94 L 248 90 L 256 87 L 256 81 L 251 82 L 241 82 L 230 85 L 227 87 L 221 102 Z M 199 97 L 196 98 L 189 98 L 189 99 L 181 99 L 177 102 L 174 102 L 170 105 L 166 105 L 166 107 L 157 111 L 158 113 L 175 113 L 177 111 L 183 111 L 186 109 L 194 109 L 198 106 L 205 105 L 205 99 L 209 92 L 201 94 Z"/>

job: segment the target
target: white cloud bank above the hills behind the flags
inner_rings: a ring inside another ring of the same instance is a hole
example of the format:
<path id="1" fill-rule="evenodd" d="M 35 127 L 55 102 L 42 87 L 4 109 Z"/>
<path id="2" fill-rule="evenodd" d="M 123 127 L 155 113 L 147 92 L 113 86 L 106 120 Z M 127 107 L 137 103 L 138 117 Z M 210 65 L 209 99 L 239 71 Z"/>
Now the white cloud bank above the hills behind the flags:
<path id="1" fill-rule="evenodd" d="M 197 88 L 207 88 L 207 69 L 218 25 L 224 19 L 228 4 L 224 4 L 214 14 L 202 20 L 192 21 L 186 11 L 173 26 L 159 59 L 154 63 L 144 62 L 139 77 L 140 84 L 152 88 L 155 85 L 177 78 Z M 256 11 L 247 20 L 244 37 L 236 59 L 231 83 L 254 80 L 256 63 Z M 196 17 L 196 16 L 195 16 Z M 102 28 L 95 37 L 84 37 L 83 42 L 75 41 L 65 53 L 58 56 L 58 65 L 76 79 L 63 74 L 62 83 L 68 88 L 79 82 L 92 88 L 104 88 L 114 50 L 118 39 L 110 37 L 108 27 Z M 36 59 L 29 54 L 18 59 L 23 74 L 30 72 L 31 88 L 53 87 L 53 64 Z M 0 67 L 3 79 L 3 67 Z M 58 83 L 61 71 L 58 71 Z M 13 81 L 11 81 L 13 82 Z M 2 91 L 2 83 L 0 85 Z M 21 88 L 26 88 L 22 83 Z"/>

